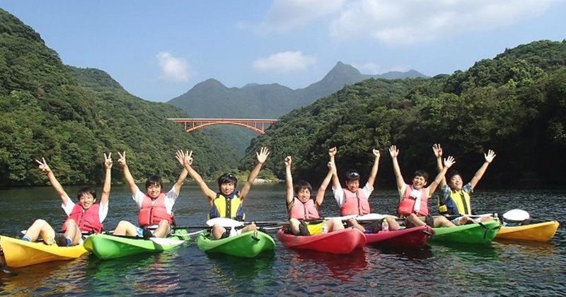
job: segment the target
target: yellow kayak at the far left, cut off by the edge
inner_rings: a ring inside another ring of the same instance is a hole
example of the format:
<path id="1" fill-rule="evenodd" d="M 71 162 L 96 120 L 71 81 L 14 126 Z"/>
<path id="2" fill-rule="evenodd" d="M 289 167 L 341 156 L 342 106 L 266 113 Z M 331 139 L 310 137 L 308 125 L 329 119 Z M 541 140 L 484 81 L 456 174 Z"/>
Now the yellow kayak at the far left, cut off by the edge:
<path id="1" fill-rule="evenodd" d="M 57 245 L 45 245 L 44 243 L 30 243 L 4 235 L 0 236 L 0 247 L 4 250 L 4 258 L 8 267 L 24 267 L 44 262 L 72 260 L 88 252 L 83 248 L 83 245 L 59 247 Z"/>

